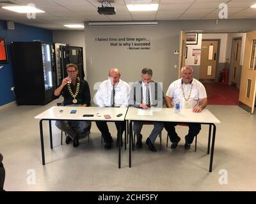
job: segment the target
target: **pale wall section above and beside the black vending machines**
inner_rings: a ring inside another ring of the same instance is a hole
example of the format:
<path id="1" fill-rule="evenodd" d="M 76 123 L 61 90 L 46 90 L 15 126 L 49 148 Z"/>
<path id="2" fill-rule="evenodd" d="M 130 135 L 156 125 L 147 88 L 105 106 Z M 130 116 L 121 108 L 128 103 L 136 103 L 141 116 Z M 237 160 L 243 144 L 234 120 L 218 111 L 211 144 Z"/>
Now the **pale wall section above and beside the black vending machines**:
<path id="1" fill-rule="evenodd" d="M 84 75 L 87 79 L 84 31 L 52 31 L 52 38 L 54 43 L 83 47 Z"/>

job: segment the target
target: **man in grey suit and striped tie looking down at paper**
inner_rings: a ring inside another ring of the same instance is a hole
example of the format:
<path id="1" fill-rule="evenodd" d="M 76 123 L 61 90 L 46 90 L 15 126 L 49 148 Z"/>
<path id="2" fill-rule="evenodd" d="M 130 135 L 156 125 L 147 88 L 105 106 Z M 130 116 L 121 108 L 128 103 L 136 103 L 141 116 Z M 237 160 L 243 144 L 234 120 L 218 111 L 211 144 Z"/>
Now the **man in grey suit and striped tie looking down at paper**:
<path id="1" fill-rule="evenodd" d="M 163 89 L 159 83 L 152 80 L 152 75 L 152 69 L 142 69 L 141 81 L 136 82 L 131 87 L 129 106 L 143 109 L 150 107 L 163 107 L 165 102 Z M 143 121 L 134 121 L 133 125 L 133 131 L 137 136 L 136 147 L 138 148 L 142 147 L 141 129 L 143 124 Z M 152 124 L 154 125 L 154 129 L 148 136 L 146 143 L 152 152 L 156 152 L 154 142 L 157 135 L 161 133 L 162 129 L 164 128 L 164 124 L 163 122 L 152 122 Z"/>

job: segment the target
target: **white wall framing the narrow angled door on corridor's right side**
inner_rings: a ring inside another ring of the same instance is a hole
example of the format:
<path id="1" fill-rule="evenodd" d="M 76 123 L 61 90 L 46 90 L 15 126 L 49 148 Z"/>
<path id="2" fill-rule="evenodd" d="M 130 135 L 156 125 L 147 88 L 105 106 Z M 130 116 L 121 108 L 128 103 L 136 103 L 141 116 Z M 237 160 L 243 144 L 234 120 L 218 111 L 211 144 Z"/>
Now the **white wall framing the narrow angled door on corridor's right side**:
<path id="1" fill-rule="evenodd" d="M 242 38 L 240 65 L 243 66 L 245 37 L 246 37 L 246 33 L 228 33 L 227 52 L 226 52 L 226 59 L 228 63 L 230 63 L 230 60 L 231 60 L 231 49 L 232 49 L 233 38 Z"/>

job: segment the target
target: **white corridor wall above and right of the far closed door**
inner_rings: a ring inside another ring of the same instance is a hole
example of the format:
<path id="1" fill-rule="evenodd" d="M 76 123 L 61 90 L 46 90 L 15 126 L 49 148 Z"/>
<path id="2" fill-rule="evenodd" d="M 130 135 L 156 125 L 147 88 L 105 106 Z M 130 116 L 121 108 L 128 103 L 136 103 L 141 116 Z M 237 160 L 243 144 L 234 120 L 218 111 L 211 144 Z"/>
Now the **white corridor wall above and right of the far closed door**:
<path id="1" fill-rule="evenodd" d="M 220 39 L 220 63 L 226 62 L 226 50 L 227 50 L 227 33 L 204 33 L 202 40 L 219 40 Z"/>

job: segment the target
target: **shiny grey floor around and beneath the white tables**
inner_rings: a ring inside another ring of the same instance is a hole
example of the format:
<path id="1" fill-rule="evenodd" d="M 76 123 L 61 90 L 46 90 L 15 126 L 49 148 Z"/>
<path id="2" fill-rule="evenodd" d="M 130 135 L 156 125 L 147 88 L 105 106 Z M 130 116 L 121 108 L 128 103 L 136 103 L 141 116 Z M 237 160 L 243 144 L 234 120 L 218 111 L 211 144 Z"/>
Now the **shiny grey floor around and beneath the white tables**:
<path id="1" fill-rule="evenodd" d="M 60 100 L 60 99 L 59 99 Z M 177 149 L 150 152 L 145 138 L 152 126 L 143 128 L 143 149 L 122 150 L 122 168 L 118 169 L 118 149 L 105 150 L 93 122 L 90 143 L 84 138 L 76 149 L 60 145 L 60 131 L 53 127 L 53 145 L 44 122 L 45 162 L 42 166 L 39 121 L 35 115 L 56 105 L 11 106 L 0 111 L 0 152 L 4 156 L 6 191 L 256 191 L 256 117 L 238 106 L 209 105 L 221 121 L 217 125 L 212 173 L 207 155 L 208 126 L 202 126 L 195 145 L 185 151 L 186 127 L 177 128 L 182 137 Z M 116 139 L 113 124 L 109 128 Z M 156 140 L 159 149 L 159 139 Z"/>

